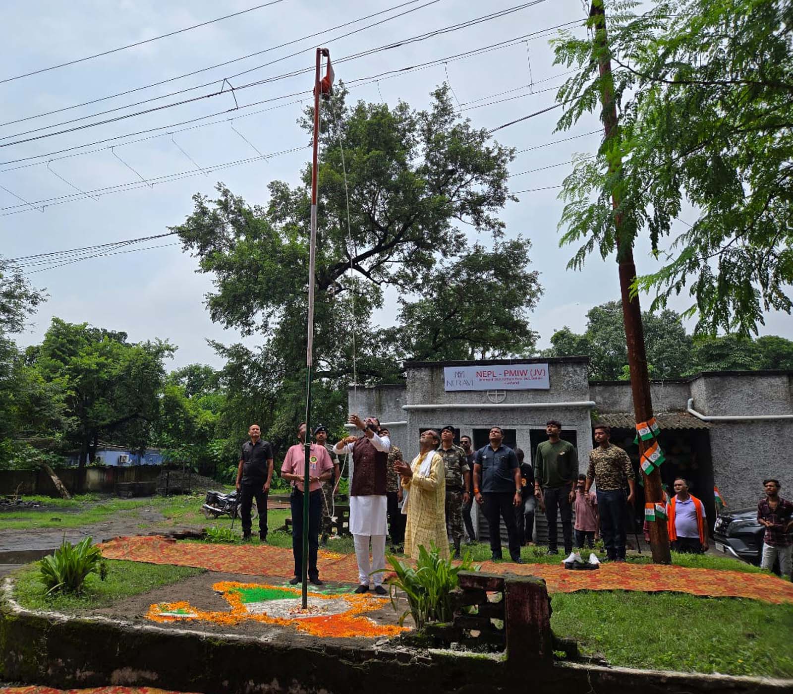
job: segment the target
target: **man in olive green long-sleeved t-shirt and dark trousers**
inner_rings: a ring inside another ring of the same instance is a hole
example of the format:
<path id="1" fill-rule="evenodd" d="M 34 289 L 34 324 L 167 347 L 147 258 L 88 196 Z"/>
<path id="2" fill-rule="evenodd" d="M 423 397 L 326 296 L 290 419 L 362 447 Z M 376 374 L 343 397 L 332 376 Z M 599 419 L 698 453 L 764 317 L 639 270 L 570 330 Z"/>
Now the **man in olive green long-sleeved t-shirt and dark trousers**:
<path id="1" fill-rule="evenodd" d="M 534 456 L 534 496 L 545 501 L 548 521 L 548 554 L 559 554 L 557 547 L 557 509 L 561 515 L 561 534 L 565 556 L 573 551 L 573 508 L 578 478 L 578 452 L 569 441 L 562 441 L 561 422 L 548 420 L 548 440 L 537 447 Z M 541 489 L 542 487 L 542 489 Z"/>

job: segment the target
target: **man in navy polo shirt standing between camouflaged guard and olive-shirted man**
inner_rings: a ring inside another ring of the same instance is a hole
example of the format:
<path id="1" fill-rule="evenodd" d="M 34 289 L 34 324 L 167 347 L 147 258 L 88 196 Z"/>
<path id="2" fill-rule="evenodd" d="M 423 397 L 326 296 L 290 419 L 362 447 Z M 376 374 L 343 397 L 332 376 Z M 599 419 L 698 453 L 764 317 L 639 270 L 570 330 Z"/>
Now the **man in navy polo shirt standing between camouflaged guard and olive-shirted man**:
<path id="1" fill-rule="evenodd" d="M 515 451 L 504 446 L 504 431 L 490 429 L 490 444 L 477 451 L 473 463 L 473 494 L 488 521 L 490 551 L 493 561 L 501 557 L 501 530 L 499 514 L 507 526 L 509 554 L 516 564 L 520 558 L 518 526 L 515 524 L 515 506 L 521 504 L 520 466 Z"/>

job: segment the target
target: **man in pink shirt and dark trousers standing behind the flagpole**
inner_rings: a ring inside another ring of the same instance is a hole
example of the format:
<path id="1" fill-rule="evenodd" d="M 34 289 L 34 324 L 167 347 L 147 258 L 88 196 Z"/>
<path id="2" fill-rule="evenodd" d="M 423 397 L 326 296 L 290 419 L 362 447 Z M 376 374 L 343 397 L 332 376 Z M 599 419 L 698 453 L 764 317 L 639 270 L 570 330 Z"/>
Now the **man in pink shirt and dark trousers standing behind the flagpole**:
<path id="1" fill-rule="evenodd" d="M 305 483 L 305 422 L 297 428 L 296 443 L 286 451 L 284 464 L 281 466 L 281 477 L 292 484 L 292 495 L 289 505 L 292 507 L 292 553 L 295 557 L 295 576 L 289 581 L 297 585 L 303 573 L 303 494 Z M 316 568 L 316 554 L 320 546 L 320 521 L 322 520 L 322 490 L 320 484 L 328 481 L 333 472 L 333 462 L 324 446 L 311 444 L 308 470 L 308 582 L 312 585 L 323 585 L 320 572 Z"/>

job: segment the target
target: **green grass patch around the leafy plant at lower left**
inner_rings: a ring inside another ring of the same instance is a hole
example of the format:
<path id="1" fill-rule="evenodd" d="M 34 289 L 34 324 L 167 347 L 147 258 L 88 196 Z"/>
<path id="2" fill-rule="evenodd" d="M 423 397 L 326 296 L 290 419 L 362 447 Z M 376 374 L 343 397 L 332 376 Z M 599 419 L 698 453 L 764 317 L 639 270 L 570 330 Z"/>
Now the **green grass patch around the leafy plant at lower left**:
<path id="1" fill-rule="evenodd" d="M 17 602 L 25 608 L 81 612 L 102 608 L 115 600 L 205 573 L 205 569 L 193 569 L 190 566 L 160 566 L 112 559 L 107 560 L 107 568 L 105 581 L 100 581 L 96 574 L 90 574 L 80 595 L 47 596 L 47 589 L 40 580 L 39 562 L 34 562 L 14 574 L 16 581 L 13 594 Z"/>

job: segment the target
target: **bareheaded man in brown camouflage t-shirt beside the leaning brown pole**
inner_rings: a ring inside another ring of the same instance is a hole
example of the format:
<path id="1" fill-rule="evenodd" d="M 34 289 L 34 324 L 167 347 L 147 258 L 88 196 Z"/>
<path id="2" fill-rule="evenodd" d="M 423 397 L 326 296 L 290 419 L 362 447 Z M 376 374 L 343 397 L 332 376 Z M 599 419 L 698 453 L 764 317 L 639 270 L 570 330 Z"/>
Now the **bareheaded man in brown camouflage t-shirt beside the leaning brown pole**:
<path id="1" fill-rule="evenodd" d="M 630 488 L 627 502 L 634 503 L 636 475 L 628 454 L 608 439 L 611 428 L 606 424 L 595 427 L 596 448 L 589 454 L 587 482 L 584 493 L 592 481 L 597 480 L 597 505 L 600 511 L 600 535 L 606 546 L 607 558 L 612 562 L 625 561 L 626 498 L 625 481 Z"/>

